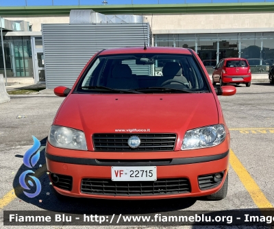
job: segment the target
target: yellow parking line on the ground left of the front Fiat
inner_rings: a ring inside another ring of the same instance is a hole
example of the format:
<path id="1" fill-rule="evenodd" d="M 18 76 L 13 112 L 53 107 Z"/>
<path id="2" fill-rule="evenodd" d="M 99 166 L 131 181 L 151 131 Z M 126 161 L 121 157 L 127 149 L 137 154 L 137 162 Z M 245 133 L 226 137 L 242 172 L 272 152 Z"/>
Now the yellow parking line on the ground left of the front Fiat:
<path id="1" fill-rule="evenodd" d="M 40 176 L 45 174 L 46 171 L 47 171 L 47 165 L 44 164 L 44 165 L 42 165 L 42 167 L 37 169 L 35 171 L 34 175 L 32 175 L 32 176 L 35 176 L 36 178 L 40 178 Z M 7 194 L 5 194 L 0 199 L 0 209 L 3 209 L 5 206 L 10 204 L 10 202 L 12 202 L 12 200 L 16 199 L 17 195 L 20 195 L 23 191 L 24 191 L 24 189 L 20 185 L 18 185 L 18 186 L 16 186 L 15 189 L 12 189 Z"/>

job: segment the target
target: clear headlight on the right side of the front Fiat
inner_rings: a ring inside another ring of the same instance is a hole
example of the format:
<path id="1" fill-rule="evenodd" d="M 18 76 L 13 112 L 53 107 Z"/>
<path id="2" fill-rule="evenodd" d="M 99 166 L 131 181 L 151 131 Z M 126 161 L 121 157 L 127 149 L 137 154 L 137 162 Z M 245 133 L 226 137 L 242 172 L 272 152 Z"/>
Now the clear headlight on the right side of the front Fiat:
<path id="1" fill-rule="evenodd" d="M 184 136 L 181 150 L 212 147 L 221 144 L 224 140 L 225 127 L 222 124 L 188 130 Z"/>

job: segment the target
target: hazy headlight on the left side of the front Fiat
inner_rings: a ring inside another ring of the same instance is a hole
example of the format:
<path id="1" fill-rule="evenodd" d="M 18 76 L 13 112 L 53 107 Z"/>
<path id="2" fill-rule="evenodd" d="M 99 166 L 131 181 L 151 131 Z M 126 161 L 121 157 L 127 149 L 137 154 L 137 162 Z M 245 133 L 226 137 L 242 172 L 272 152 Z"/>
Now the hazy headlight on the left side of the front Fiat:
<path id="1" fill-rule="evenodd" d="M 84 132 L 59 125 L 51 125 L 49 143 L 58 148 L 87 150 Z"/>

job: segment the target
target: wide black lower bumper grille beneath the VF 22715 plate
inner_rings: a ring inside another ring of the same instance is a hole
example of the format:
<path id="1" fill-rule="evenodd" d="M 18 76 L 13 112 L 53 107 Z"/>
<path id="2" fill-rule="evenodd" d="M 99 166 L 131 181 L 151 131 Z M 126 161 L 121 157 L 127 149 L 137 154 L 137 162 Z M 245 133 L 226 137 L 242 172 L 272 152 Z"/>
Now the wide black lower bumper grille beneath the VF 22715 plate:
<path id="1" fill-rule="evenodd" d="M 187 178 L 132 182 L 84 178 L 81 184 L 82 193 L 94 195 L 169 195 L 190 191 L 190 182 Z"/>

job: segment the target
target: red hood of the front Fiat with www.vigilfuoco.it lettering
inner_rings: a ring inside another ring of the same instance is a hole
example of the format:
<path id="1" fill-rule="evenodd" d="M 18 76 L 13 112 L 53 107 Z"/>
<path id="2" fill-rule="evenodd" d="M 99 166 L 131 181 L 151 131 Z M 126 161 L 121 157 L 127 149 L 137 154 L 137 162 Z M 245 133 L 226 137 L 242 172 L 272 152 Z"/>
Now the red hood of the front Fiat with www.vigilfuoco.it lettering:
<path id="1" fill-rule="evenodd" d="M 176 133 L 219 123 L 212 93 L 71 94 L 54 125 L 94 133 Z"/>

